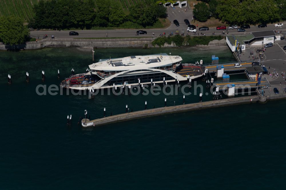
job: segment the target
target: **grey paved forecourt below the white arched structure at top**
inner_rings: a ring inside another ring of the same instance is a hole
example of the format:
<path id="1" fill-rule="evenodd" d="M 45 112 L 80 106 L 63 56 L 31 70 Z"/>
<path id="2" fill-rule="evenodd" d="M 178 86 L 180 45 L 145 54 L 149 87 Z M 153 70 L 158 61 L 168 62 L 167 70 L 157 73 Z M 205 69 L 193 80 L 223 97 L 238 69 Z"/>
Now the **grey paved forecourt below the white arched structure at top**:
<path id="1" fill-rule="evenodd" d="M 187 12 L 185 12 L 185 9 Z M 181 31 L 184 29 L 184 32 L 187 31 L 187 25 L 184 23 L 184 19 L 188 19 L 191 23 L 192 21 L 192 10 L 187 7 L 180 8 L 175 6 L 174 8 L 171 6 L 167 7 L 168 19 L 171 22 L 171 26 L 168 29 L 179 29 Z M 173 21 L 177 20 L 180 23 L 180 26 L 177 27 Z"/>

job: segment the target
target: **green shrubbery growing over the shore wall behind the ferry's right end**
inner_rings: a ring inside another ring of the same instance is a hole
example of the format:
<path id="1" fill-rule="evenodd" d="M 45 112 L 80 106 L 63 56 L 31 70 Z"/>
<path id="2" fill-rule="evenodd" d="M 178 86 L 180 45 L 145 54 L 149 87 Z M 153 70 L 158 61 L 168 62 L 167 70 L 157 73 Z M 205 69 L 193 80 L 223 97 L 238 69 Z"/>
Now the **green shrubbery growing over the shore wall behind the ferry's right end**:
<path id="1" fill-rule="evenodd" d="M 168 37 L 162 36 L 152 41 L 152 45 L 154 47 L 156 45 L 162 47 L 164 46 L 165 43 L 168 43 L 170 45 L 172 42 L 174 43 L 174 46 L 177 47 L 208 45 L 210 41 L 221 40 L 223 38 L 224 38 L 223 36 L 192 36 L 192 37 L 191 36 L 182 37 L 180 35 L 168 36 Z"/>

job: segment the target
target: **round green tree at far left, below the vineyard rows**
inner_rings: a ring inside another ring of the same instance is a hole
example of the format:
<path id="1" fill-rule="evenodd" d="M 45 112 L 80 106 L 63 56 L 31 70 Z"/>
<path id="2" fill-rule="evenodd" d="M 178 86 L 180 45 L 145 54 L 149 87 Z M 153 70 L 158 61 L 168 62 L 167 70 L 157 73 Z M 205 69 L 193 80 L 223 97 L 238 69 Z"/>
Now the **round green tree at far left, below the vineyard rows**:
<path id="1" fill-rule="evenodd" d="M 25 43 L 30 32 L 18 17 L 0 17 L 0 41 L 5 45 Z"/>

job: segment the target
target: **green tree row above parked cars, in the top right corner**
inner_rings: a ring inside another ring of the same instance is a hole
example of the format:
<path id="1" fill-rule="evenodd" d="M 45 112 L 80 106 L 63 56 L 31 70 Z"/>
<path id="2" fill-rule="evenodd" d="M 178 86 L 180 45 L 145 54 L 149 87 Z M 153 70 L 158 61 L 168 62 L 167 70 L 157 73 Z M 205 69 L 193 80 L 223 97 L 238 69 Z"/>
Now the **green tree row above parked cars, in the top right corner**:
<path id="1" fill-rule="evenodd" d="M 286 20 L 285 0 L 202 0 L 194 6 L 194 18 L 215 17 L 229 24 L 273 23 Z"/>

